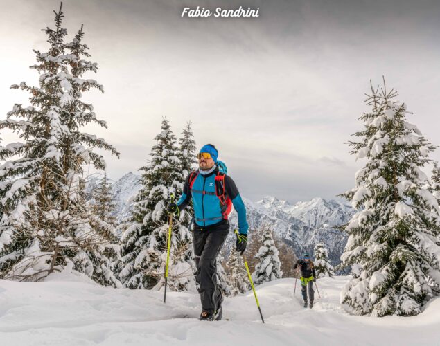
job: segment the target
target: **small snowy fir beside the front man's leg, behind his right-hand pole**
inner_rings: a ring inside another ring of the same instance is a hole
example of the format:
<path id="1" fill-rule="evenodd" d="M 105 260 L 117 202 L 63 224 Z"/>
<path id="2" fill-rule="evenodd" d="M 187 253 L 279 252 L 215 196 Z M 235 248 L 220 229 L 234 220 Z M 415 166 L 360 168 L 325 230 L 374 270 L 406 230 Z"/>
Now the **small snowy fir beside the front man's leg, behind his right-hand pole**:
<path id="1" fill-rule="evenodd" d="M 249 291 L 251 286 L 249 277 L 247 277 L 245 262 L 239 252 L 231 251 L 226 262 L 225 272 L 227 275 L 227 286 L 231 289 L 229 294 L 231 297 L 235 297 L 238 293 Z"/>

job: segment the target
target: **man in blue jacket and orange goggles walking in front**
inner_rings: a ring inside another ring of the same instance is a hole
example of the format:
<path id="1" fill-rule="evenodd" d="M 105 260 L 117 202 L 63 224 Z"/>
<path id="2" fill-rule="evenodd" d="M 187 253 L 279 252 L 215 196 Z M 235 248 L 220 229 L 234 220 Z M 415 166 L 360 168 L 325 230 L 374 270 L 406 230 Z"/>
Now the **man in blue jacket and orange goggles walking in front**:
<path id="1" fill-rule="evenodd" d="M 245 251 L 249 226 L 245 204 L 236 184 L 216 165 L 218 150 L 211 144 L 204 145 L 197 158 L 199 169 L 188 175 L 182 197 L 177 203 L 168 203 L 167 210 L 178 215 L 193 200 L 196 280 L 202 301 L 200 320 L 221 320 L 223 297 L 216 280 L 216 259 L 229 232 L 228 202 L 234 205 L 238 214 L 240 235 L 236 251 Z"/>

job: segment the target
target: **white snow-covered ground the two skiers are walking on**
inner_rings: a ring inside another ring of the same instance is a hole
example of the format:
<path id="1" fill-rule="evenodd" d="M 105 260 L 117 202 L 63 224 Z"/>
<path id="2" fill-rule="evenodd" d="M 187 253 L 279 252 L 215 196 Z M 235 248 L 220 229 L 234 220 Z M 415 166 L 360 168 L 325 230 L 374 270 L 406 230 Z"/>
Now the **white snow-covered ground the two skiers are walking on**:
<path id="1" fill-rule="evenodd" d="M 226 298 L 220 322 L 201 322 L 196 293 L 112 289 L 83 275 L 46 282 L 0 280 L 1 345 L 440 345 L 440 299 L 419 316 L 351 316 L 339 304 L 347 277 L 319 279 L 315 306 L 304 309 L 301 283 L 258 286 Z M 176 318 L 188 315 L 190 318 Z"/>

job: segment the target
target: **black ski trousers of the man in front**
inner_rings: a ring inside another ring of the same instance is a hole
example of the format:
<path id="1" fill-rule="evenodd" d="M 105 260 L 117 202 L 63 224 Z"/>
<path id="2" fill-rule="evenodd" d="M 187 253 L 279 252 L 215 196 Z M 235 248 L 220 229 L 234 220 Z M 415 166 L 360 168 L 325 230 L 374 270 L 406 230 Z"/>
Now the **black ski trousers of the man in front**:
<path id="1" fill-rule="evenodd" d="M 193 229 L 193 244 L 197 275 L 195 280 L 200 288 L 202 310 L 214 313 L 220 302 L 222 292 L 217 284 L 217 256 L 225 243 L 229 232 L 229 223 L 218 226 Z"/>

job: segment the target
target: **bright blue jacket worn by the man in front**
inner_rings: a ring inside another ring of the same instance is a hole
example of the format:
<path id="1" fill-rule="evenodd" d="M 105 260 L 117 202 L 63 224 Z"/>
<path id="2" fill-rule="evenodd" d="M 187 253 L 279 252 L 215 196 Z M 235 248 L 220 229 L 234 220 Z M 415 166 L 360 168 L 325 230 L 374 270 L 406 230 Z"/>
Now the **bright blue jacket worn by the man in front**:
<path id="1" fill-rule="evenodd" d="M 217 174 L 218 167 L 209 174 L 197 174 L 192 188 L 190 188 L 189 177 L 191 174 L 189 174 L 184 184 L 182 197 L 177 202 L 179 210 L 183 210 L 188 206 L 191 198 L 193 199 L 194 221 L 200 228 L 217 226 L 224 221 L 220 199 L 215 195 L 215 176 Z M 225 193 L 231 199 L 238 214 L 238 231 L 247 235 L 249 225 L 246 220 L 245 203 L 240 197 L 236 183 L 228 175 L 225 175 Z"/>

